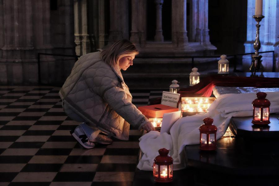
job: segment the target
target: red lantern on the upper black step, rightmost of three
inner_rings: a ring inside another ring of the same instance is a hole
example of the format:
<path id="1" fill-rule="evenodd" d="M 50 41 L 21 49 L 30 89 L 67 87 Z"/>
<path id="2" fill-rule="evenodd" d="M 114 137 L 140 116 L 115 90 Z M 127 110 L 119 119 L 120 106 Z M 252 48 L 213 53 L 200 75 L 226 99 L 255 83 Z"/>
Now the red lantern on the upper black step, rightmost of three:
<path id="1" fill-rule="evenodd" d="M 253 105 L 253 120 L 255 125 L 268 125 L 269 121 L 269 106 L 270 101 L 265 99 L 265 92 L 258 92 L 257 98 L 252 102 Z"/>

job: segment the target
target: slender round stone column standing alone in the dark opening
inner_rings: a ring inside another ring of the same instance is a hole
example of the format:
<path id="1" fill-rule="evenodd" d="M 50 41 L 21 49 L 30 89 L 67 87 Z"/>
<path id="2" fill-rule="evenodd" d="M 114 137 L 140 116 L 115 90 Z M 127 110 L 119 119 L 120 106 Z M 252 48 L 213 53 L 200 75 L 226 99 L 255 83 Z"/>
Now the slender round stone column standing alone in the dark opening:
<path id="1" fill-rule="evenodd" d="M 156 4 L 156 34 L 154 40 L 156 42 L 163 42 L 163 30 L 162 30 L 162 5 L 164 0 L 154 0 Z"/>

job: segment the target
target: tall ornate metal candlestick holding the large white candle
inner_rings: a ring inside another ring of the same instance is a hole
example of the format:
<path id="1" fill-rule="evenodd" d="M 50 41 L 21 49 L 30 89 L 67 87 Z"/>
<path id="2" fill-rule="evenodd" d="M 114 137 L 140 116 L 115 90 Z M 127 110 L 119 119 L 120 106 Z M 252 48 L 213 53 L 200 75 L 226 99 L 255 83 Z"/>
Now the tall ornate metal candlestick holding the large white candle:
<path id="1" fill-rule="evenodd" d="M 259 41 L 259 27 L 261 26 L 259 22 L 264 18 L 263 15 L 253 15 L 253 18 L 257 21 L 256 24 L 256 39 L 254 42 L 254 49 L 255 49 L 255 54 L 252 55 L 252 64 L 250 67 L 250 72 L 251 73 L 256 73 L 256 72 L 261 72 L 263 73 L 264 68 L 262 65 L 262 60 L 261 58 L 263 56 L 259 55 L 259 49 L 261 48 L 261 42 Z"/>

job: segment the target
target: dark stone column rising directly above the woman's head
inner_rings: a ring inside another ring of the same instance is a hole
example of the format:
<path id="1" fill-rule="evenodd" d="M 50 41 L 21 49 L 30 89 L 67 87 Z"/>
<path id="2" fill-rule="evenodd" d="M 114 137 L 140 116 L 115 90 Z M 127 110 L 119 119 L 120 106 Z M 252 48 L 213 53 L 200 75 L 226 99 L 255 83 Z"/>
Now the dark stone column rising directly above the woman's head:
<path id="1" fill-rule="evenodd" d="M 109 43 L 129 39 L 128 4 L 128 0 L 110 0 Z"/>

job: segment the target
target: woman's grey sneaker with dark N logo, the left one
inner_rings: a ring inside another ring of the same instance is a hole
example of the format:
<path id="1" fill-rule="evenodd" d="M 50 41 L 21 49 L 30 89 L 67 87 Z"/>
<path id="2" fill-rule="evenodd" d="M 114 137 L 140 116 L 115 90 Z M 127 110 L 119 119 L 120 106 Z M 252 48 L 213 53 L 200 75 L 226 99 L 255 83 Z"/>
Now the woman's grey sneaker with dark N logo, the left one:
<path id="1" fill-rule="evenodd" d="M 70 131 L 71 135 L 81 144 L 84 148 L 94 148 L 95 144 L 88 140 L 85 132 L 81 126 L 77 126 L 74 131 Z"/>

